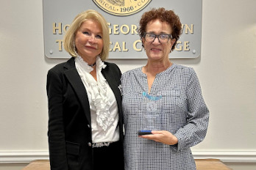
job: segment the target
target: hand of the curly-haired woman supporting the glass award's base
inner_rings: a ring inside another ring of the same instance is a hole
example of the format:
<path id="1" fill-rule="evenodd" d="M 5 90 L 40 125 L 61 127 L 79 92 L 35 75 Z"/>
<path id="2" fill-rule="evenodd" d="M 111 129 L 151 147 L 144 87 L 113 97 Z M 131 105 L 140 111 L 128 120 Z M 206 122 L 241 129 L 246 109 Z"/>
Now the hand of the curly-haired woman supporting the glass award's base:
<path id="1" fill-rule="evenodd" d="M 163 144 L 174 145 L 178 143 L 178 138 L 167 130 L 152 130 L 151 135 L 139 136 L 149 140 L 161 142 Z"/>

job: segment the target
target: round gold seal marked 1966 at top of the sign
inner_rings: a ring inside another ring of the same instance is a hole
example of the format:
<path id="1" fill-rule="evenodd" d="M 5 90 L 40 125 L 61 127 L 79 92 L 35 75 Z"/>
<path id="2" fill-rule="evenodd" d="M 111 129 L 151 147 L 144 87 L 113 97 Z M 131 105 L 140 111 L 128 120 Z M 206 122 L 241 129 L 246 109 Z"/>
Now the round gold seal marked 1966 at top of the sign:
<path id="1" fill-rule="evenodd" d="M 152 0 L 93 0 L 102 10 L 112 15 L 135 14 L 145 8 Z"/>

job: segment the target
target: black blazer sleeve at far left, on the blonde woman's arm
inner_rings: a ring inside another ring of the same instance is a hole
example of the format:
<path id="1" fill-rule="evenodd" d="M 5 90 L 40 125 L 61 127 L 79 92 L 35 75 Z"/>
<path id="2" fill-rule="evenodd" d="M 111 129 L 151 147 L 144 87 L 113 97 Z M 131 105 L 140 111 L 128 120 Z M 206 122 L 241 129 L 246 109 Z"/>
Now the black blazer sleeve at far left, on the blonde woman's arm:
<path id="1" fill-rule="evenodd" d="M 63 82 L 61 76 L 49 70 L 47 75 L 49 105 L 49 155 L 51 170 L 68 170 L 63 123 Z"/>

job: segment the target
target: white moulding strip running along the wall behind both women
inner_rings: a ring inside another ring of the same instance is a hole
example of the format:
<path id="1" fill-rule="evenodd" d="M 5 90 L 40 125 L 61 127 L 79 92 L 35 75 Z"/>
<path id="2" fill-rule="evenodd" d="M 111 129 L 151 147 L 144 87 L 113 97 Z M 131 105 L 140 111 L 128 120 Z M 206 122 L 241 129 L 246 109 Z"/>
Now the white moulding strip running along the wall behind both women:
<path id="1" fill-rule="evenodd" d="M 256 163 L 256 150 L 206 150 L 193 151 L 195 159 L 214 158 L 226 163 Z M 0 152 L 0 163 L 29 163 L 32 160 L 48 160 L 48 151 Z"/>

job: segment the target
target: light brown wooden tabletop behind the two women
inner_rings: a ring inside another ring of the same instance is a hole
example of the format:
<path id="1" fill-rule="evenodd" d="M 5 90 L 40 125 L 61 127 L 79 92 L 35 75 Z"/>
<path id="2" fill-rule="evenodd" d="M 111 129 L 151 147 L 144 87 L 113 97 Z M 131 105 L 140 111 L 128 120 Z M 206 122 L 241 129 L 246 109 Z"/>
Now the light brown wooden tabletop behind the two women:
<path id="1" fill-rule="evenodd" d="M 49 160 L 34 160 L 23 170 L 50 170 Z M 196 159 L 196 170 L 230 170 L 218 159 Z"/>

